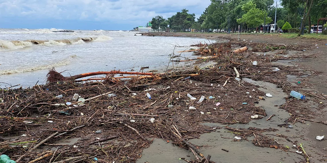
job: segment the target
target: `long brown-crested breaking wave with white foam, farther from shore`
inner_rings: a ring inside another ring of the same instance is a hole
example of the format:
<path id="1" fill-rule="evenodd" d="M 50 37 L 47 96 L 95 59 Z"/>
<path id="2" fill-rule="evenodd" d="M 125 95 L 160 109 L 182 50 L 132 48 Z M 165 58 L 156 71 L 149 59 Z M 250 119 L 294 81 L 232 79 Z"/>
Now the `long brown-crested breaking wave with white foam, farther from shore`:
<path id="1" fill-rule="evenodd" d="M 32 45 L 69 45 L 69 44 L 80 44 L 85 42 L 92 42 L 92 41 L 105 41 L 105 40 L 112 40 L 112 37 L 109 36 L 98 36 L 98 37 L 76 37 L 76 38 L 69 38 L 69 39 L 50 39 L 50 40 L 15 40 L 15 41 L 7 41 L 7 40 L 0 40 L 0 50 L 16 50 L 19 48 L 24 48 L 26 46 Z"/>

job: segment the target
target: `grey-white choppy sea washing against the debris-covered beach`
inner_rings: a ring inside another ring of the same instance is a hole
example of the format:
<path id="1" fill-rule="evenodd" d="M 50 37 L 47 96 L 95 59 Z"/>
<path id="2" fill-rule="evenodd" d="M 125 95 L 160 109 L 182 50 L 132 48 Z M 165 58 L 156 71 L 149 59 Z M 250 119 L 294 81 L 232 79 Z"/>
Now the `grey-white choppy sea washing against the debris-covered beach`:
<path id="1" fill-rule="evenodd" d="M 187 50 L 203 38 L 149 37 L 138 32 L 0 29 L 0 88 L 44 84 L 49 69 L 63 76 L 96 71 L 164 69 L 170 60 L 196 58 Z M 135 36 L 136 35 L 136 36 Z M 172 58 L 172 53 L 177 58 Z M 171 64 L 171 62 L 170 62 Z M 177 63 L 176 63 L 177 64 Z M 180 67 L 185 62 L 178 63 Z"/>

